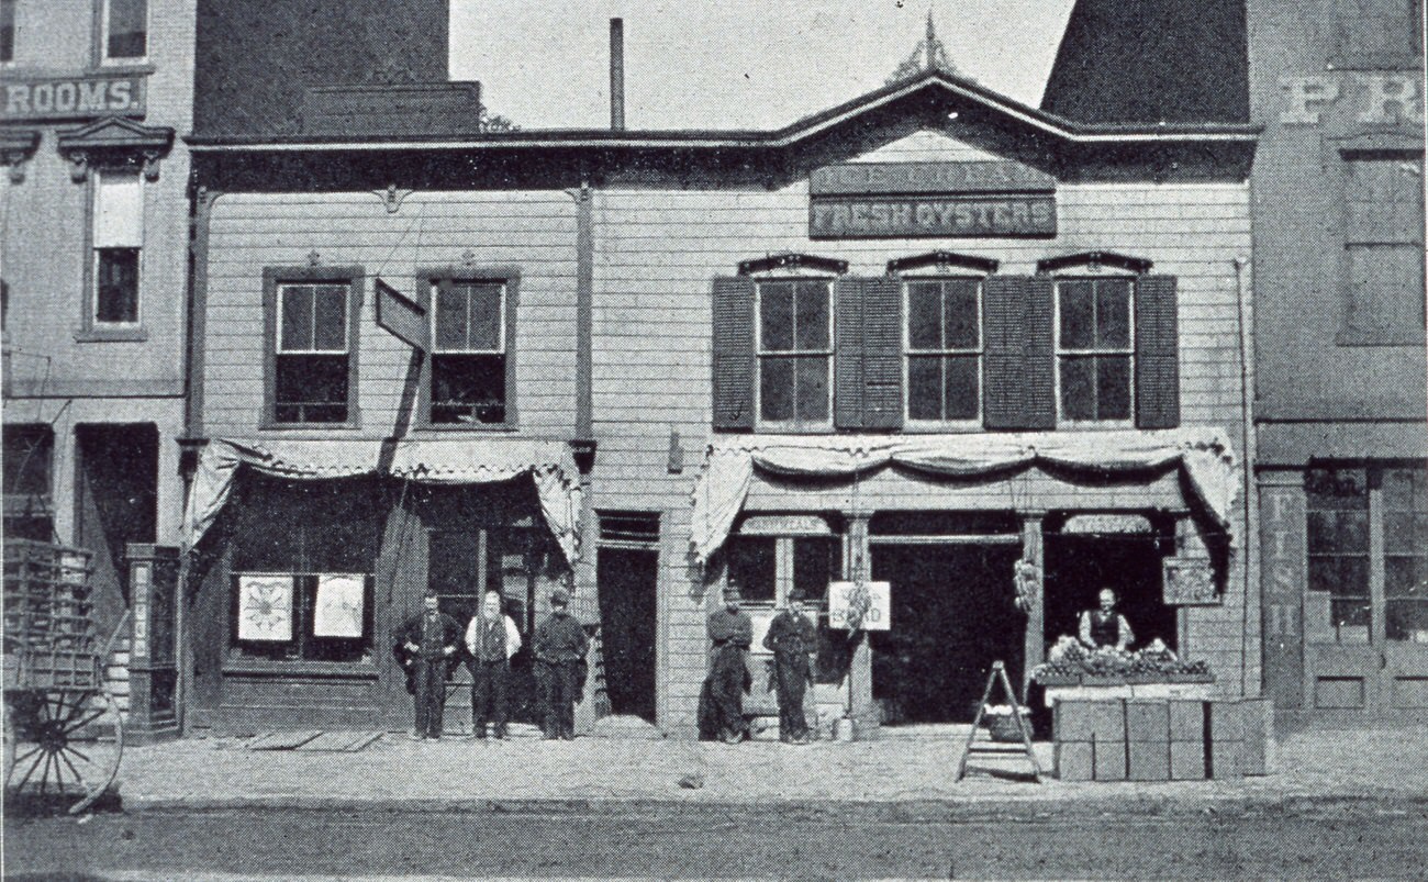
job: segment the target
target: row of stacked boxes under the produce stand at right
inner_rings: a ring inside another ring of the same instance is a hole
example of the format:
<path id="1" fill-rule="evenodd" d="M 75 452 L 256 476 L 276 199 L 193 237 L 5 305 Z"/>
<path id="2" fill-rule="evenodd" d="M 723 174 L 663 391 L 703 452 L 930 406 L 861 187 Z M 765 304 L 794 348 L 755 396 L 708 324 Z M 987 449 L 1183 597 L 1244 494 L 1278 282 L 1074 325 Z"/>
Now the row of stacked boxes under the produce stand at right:
<path id="1" fill-rule="evenodd" d="M 1265 699 L 1064 699 L 1054 712 L 1061 781 L 1202 781 L 1267 775 Z"/>

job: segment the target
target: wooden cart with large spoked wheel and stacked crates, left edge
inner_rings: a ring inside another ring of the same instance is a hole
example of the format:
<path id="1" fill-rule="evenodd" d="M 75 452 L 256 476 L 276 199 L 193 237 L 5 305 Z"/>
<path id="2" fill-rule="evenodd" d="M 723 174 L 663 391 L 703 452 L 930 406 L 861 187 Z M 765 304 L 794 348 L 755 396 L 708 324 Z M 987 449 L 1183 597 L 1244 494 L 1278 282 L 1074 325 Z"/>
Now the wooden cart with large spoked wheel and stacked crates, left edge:
<path id="1" fill-rule="evenodd" d="M 110 788 L 124 752 L 90 572 L 87 551 L 4 542 L 6 798 L 73 798 L 71 815 Z"/>

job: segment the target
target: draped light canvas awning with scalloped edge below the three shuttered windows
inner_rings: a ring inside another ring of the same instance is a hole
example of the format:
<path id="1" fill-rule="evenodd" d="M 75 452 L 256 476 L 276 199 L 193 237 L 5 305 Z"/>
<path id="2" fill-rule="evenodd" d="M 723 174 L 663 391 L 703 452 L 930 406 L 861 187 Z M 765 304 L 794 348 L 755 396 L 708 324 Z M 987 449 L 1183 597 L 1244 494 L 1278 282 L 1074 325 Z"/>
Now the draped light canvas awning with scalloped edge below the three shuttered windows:
<path id="1" fill-rule="evenodd" d="M 888 465 L 942 477 L 975 477 L 1035 464 L 1107 475 L 1178 467 L 1204 511 L 1227 532 L 1235 461 L 1220 430 L 1027 432 L 1015 435 L 744 435 L 705 452 L 694 487 L 690 548 L 704 562 L 728 538 L 754 470 L 815 478 L 853 477 Z"/>

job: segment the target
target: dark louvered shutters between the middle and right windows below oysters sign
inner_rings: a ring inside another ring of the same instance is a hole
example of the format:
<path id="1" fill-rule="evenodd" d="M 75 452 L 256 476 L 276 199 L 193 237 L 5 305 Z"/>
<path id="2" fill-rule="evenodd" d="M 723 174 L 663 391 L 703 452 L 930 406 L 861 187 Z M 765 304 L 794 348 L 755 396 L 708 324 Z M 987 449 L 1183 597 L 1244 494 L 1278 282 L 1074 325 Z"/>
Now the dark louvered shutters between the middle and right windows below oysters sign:
<path id="1" fill-rule="evenodd" d="M 987 428 L 1057 427 L 1052 297 L 1041 275 L 991 275 L 982 285 Z"/>

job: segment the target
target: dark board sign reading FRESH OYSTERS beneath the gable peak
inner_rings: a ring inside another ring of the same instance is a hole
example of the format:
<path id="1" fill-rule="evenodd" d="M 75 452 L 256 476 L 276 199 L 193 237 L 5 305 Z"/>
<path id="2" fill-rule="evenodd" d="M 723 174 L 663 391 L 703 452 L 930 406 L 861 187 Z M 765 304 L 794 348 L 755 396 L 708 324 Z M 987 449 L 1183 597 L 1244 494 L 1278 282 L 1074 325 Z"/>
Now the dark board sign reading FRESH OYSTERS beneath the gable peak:
<path id="1" fill-rule="evenodd" d="M 808 181 L 811 238 L 1055 235 L 1055 178 L 1012 161 L 848 163 Z"/>

